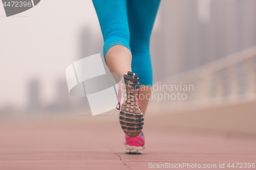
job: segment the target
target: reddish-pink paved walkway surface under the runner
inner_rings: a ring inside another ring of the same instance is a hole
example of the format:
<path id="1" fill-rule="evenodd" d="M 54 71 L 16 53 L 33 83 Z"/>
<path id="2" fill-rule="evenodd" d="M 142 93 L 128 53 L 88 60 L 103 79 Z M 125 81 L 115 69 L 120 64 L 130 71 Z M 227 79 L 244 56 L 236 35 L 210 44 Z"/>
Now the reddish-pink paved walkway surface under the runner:
<path id="1" fill-rule="evenodd" d="M 181 131 L 153 122 L 153 117 L 145 122 L 143 155 L 125 154 L 124 134 L 113 115 L 1 122 L 0 169 L 238 169 L 256 163 L 253 136 Z"/>

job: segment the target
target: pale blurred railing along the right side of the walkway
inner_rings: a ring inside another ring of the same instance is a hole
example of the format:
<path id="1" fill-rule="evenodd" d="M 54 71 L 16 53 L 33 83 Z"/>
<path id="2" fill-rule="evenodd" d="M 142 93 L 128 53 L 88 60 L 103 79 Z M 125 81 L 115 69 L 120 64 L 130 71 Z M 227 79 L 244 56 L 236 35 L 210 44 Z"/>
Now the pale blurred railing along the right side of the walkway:
<path id="1" fill-rule="evenodd" d="M 193 70 L 161 80 L 166 85 L 193 85 L 194 90 L 178 90 L 186 100 L 159 100 L 159 103 L 224 103 L 256 99 L 256 46 L 229 55 Z M 160 94 L 161 91 L 153 91 Z M 167 90 L 172 94 L 175 91 Z M 176 92 L 177 93 L 177 92 Z"/>

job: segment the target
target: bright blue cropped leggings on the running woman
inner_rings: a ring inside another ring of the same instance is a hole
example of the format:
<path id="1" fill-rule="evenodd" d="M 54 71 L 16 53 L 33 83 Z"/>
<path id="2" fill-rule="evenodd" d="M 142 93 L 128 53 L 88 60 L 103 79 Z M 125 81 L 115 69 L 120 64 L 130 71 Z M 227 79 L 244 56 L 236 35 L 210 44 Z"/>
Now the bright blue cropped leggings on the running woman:
<path id="1" fill-rule="evenodd" d="M 104 57 L 114 45 L 127 47 L 140 84 L 152 86 L 150 36 L 160 0 L 93 0 L 93 4 L 104 38 Z"/>

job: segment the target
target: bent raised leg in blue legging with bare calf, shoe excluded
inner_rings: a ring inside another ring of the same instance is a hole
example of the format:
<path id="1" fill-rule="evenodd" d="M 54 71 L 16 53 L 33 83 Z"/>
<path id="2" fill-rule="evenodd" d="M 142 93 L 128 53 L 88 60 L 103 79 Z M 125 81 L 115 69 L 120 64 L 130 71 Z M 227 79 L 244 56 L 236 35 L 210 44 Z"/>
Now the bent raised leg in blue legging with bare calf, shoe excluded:
<path id="1" fill-rule="evenodd" d="M 103 54 L 111 72 L 132 71 L 126 1 L 93 0 L 104 38 Z"/>

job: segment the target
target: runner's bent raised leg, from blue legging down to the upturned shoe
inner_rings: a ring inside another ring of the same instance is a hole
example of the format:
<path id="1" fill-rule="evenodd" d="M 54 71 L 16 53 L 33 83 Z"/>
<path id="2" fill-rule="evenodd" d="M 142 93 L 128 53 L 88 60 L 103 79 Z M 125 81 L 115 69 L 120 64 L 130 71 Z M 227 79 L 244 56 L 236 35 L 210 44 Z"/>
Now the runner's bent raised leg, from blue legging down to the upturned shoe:
<path id="1" fill-rule="evenodd" d="M 106 64 L 111 72 L 124 75 L 118 89 L 119 123 L 130 139 L 140 135 L 144 118 L 137 99 L 140 80 L 137 74 L 131 72 L 132 53 L 126 0 L 93 0 L 93 4 L 104 38 Z M 126 147 L 131 145 L 127 143 Z"/>

